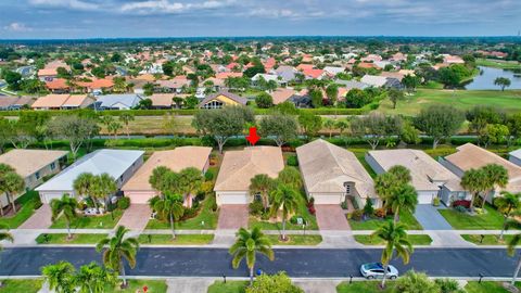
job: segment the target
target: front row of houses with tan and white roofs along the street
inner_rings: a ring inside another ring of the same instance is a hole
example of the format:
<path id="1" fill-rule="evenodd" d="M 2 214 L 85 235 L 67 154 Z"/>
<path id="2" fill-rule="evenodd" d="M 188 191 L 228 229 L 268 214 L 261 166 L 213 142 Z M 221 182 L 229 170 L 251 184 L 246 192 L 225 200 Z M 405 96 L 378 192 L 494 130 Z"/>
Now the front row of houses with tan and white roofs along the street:
<path id="1" fill-rule="evenodd" d="M 0 163 L 13 166 L 26 180 L 27 189 L 42 182 L 42 178 L 58 174 L 37 187 L 41 201 L 49 203 L 63 193 L 75 194 L 73 182 L 82 173 L 107 173 L 118 189 L 135 204 L 144 204 L 157 194 L 149 178 L 154 168 L 165 166 L 174 171 L 194 167 L 206 173 L 212 149 L 206 146 L 180 146 L 170 151 L 154 152 L 144 160 L 143 151 L 98 150 L 62 170 L 67 152 L 43 150 L 13 150 L 0 155 Z M 366 162 L 376 174 L 401 165 L 410 170 L 411 186 L 418 192 L 420 204 L 430 204 L 439 198 L 445 205 L 457 200 L 469 200 L 471 194 L 460 186 L 466 170 L 487 164 L 498 164 L 508 170 L 509 182 L 503 190 L 521 192 L 521 150 L 510 153 L 510 161 L 474 144 L 467 143 L 457 152 L 436 161 L 419 150 L 398 149 L 369 151 Z M 374 181 L 356 155 L 325 140 L 315 140 L 296 149 L 298 168 L 308 198 L 315 204 L 356 202 L 361 207 L 367 201 L 380 207 L 382 200 L 374 191 Z M 218 205 L 247 204 L 250 180 L 259 174 L 277 178 L 284 168 L 282 151 L 276 146 L 251 146 L 240 151 L 227 151 L 224 155 L 214 191 Z M 490 196 L 493 198 L 493 196 Z M 191 206 L 191 198 L 185 199 Z M 2 204 L 7 200 L 2 199 Z"/>

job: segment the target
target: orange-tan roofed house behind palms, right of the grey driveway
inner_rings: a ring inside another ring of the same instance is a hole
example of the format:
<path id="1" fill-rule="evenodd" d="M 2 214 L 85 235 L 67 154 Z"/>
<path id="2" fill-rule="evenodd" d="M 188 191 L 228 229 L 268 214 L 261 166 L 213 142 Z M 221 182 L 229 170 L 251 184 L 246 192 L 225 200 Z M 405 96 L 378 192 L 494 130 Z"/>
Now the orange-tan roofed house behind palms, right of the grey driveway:
<path id="1" fill-rule="evenodd" d="M 482 149 L 472 143 L 466 143 L 456 148 L 457 152 L 440 158 L 440 163 L 456 174 L 459 178 L 470 169 L 479 169 L 490 164 L 503 166 L 508 171 L 508 183 L 505 188 L 496 188 L 487 196 L 492 201 L 501 191 L 521 192 L 521 167 L 499 155 Z"/>

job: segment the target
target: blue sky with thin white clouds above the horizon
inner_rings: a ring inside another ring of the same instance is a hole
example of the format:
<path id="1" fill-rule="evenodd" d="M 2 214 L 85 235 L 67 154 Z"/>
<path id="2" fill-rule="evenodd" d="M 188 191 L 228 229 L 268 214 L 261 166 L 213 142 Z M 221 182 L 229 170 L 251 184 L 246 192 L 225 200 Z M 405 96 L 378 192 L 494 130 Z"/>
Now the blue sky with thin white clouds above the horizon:
<path id="1" fill-rule="evenodd" d="M 1 0 L 0 39 L 505 36 L 521 0 Z"/>

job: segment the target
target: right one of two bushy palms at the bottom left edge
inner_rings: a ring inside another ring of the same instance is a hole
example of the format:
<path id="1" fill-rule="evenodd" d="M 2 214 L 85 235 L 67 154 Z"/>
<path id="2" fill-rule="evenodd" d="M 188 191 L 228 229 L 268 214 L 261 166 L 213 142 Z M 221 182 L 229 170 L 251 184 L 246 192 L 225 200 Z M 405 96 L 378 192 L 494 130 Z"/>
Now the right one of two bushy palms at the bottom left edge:
<path id="1" fill-rule="evenodd" d="M 115 285 L 117 278 L 114 272 L 92 262 L 81 266 L 74 276 L 75 283 L 79 285 L 80 293 L 103 293 L 105 285 Z"/>

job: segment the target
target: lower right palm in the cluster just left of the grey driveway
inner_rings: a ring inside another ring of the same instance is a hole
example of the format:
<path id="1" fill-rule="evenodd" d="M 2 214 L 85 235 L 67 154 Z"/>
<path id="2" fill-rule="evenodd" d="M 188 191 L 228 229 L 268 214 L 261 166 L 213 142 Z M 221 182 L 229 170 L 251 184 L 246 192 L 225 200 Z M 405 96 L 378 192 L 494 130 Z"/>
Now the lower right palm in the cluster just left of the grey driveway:
<path id="1" fill-rule="evenodd" d="M 394 213 L 394 224 L 398 222 L 399 212 L 408 211 L 415 213 L 416 205 L 418 204 L 418 192 L 410 184 L 403 184 L 393 188 L 390 191 L 390 195 L 384 199 L 385 207 L 391 207 Z"/>

